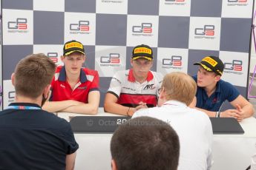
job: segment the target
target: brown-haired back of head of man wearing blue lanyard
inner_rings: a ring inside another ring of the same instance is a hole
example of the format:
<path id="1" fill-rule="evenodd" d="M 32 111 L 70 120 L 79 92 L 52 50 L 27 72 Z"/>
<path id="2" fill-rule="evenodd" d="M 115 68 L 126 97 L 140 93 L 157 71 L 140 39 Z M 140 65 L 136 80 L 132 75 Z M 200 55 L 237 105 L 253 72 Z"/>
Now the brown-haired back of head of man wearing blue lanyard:
<path id="1" fill-rule="evenodd" d="M 38 98 L 50 84 L 56 65 L 44 54 L 32 54 L 16 65 L 14 82 L 16 95 Z"/>

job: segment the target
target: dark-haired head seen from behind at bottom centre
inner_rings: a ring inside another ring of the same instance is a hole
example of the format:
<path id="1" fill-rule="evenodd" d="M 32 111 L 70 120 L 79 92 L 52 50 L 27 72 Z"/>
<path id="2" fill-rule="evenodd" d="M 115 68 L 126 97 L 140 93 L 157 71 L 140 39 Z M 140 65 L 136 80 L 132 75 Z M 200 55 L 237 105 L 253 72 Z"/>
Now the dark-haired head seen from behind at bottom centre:
<path id="1" fill-rule="evenodd" d="M 113 170 L 177 170 L 179 137 L 168 123 L 141 117 L 120 125 L 111 139 Z"/>

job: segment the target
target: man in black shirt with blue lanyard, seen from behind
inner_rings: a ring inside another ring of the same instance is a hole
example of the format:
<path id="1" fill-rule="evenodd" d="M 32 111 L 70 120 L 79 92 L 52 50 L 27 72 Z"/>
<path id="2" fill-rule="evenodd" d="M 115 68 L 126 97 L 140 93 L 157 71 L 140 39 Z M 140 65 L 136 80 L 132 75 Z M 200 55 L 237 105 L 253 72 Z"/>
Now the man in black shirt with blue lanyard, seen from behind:
<path id="1" fill-rule="evenodd" d="M 0 112 L 0 169 L 73 169 L 78 144 L 70 124 L 42 110 L 56 66 L 28 55 L 11 76 L 15 102 Z"/>

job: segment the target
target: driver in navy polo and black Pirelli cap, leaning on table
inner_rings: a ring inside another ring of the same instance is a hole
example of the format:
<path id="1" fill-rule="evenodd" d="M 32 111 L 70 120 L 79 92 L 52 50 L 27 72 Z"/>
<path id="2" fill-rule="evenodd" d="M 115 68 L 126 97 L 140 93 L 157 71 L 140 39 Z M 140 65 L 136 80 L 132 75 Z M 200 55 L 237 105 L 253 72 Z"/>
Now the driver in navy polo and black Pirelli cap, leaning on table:
<path id="1" fill-rule="evenodd" d="M 210 117 L 231 117 L 238 121 L 253 115 L 255 110 L 252 104 L 232 84 L 220 79 L 224 69 L 220 58 L 206 56 L 194 65 L 199 65 L 197 75 L 193 77 L 197 82 L 197 109 L 206 112 Z M 220 112 L 226 100 L 235 109 Z"/>

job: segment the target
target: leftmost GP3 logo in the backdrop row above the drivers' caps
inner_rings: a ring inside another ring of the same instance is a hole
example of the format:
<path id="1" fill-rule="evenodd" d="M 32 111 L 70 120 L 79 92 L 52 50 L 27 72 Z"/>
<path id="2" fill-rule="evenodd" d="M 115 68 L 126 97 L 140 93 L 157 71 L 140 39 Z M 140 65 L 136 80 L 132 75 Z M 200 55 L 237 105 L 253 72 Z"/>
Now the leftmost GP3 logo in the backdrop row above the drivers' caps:
<path id="1" fill-rule="evenodd" d="M 8 33 L 27 33 L 27 18 L 16 18 L 7 22 Z"/>

